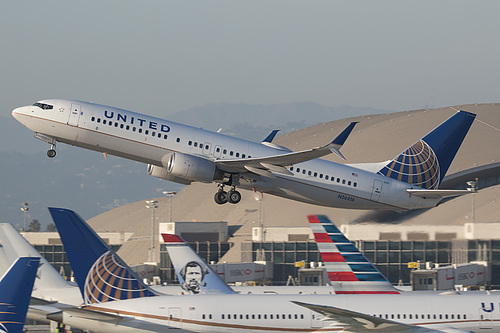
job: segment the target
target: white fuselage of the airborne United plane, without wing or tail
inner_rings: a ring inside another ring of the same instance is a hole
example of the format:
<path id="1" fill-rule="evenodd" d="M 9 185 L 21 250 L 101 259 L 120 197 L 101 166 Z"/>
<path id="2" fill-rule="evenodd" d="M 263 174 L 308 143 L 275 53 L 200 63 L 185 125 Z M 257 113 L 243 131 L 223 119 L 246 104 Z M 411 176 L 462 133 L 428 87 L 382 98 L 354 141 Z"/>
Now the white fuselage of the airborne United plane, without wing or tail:
<path id="1" fill-rule="evenodd" d="M 123 158 L 166 167 L 165 156 L 181 153 L 209 161 L 285 153 L 250 142 L 118 108 L 69 100 L 25 106 L 13 116 L 36 134 Z M 241 175 L 239 187 L 311 204 L 349 209 L 408 210 L 433 207 L 440 199 L 411 196 L 414 186 L 374 172 L 322 159 L 298 163 L 290 175 Z M 193 181 L 196 181 L 193 180 Z M 206 181 L 206 180 L 200 180 Z"/>

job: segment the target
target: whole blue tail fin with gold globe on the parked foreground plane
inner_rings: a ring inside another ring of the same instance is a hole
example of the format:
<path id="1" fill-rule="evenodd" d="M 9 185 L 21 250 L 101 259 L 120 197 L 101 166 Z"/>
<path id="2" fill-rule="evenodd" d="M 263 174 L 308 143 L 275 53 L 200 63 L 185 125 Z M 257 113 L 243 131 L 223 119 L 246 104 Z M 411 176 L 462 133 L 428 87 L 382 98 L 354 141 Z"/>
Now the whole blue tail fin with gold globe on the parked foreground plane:
<path id="1" fill-rule="evenodd" d="M 156 296 L 78 214 L 49 211 L 86 305 Z"/>

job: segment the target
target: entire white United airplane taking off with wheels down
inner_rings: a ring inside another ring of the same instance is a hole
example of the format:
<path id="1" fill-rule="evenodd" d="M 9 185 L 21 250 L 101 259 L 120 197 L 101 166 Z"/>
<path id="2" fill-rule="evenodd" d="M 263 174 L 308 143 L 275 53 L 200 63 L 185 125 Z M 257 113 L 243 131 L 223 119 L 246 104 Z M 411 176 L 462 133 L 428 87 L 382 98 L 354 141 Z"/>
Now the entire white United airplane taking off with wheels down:
<path id="1" fill-rule="evenodd" d="M 347 165 L 320 157 L 342 157 L 355 123 L 324 146 L 292 152 L 272 143 L 276 131 L 254 143 L 79 101 L 41 100 L 12 115 L 51 145 L 49 157 L 62 142 L 148 163 L 148 173 L 161 179 L 217 183 L 218 204 L 238 203 L 239 187 L 321 206 L 391 210 L 434 207 L 445 196 L 467 193 L 438 187 L 475 118 L 457 112 L 393 160 Z"/>

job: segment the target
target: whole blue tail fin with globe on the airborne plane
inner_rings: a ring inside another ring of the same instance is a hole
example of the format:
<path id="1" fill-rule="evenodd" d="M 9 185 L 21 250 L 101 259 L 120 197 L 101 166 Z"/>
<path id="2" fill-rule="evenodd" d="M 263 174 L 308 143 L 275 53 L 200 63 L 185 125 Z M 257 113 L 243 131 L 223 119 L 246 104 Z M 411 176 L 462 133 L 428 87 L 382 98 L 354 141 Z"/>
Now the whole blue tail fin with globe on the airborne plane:
<path id="1" fill-rule="evenodd" d="M 378 173 L 421 188 L 437 189 L 475 117 L 466 111 L 455 113 Z"/>

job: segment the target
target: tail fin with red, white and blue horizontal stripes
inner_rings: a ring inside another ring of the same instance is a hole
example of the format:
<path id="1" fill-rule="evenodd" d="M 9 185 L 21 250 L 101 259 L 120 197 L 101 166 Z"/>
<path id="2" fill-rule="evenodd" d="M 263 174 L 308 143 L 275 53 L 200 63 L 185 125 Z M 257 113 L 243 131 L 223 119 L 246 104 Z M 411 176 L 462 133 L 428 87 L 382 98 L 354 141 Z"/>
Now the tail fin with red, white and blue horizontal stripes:
<path id="1" fill-rule="evenodd" d="M 336 294 L 399 294 L 327 216 L 307 218 Z"/>

